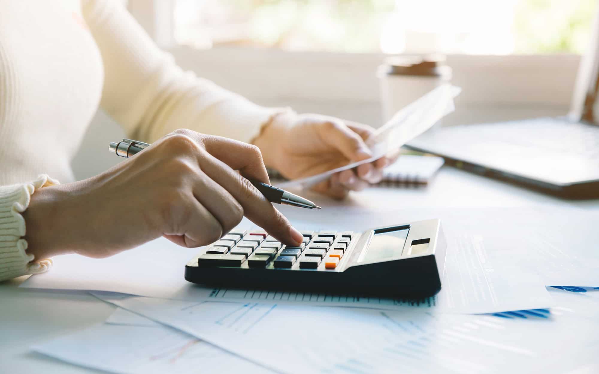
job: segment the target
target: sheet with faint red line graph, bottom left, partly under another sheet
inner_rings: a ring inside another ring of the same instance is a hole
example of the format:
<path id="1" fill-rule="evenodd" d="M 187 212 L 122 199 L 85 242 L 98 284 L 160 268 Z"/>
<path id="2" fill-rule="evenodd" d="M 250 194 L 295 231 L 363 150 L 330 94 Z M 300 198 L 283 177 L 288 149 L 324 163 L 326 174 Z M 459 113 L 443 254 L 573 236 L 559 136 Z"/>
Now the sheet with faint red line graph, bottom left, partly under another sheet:
<path id="1" fill-rule="evenodd" d="M 68 363 L 119 374 L 274 373 L 120 308 L 107 323 L 38 343 L 32 349 Z"/>

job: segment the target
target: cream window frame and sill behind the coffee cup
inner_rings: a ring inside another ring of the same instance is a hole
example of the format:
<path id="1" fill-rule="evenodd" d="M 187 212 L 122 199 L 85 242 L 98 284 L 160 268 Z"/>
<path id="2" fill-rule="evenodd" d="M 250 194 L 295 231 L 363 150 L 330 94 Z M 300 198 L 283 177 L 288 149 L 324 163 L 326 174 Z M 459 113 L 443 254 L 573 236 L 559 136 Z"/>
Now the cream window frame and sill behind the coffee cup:
<path id="1" fill-rule="evenodd" d="M 235 92 L 258 101 L 380 101 L 376 71 L 386 57 L 383 53 L 247 47 L 199 50 L 174 44 L 173 8 L 174 0 L 128 0 L 135 19 L 183 68 Z M 578 54 L 447 55 L 447 64 L 453 69 L 452 82 L 464 89 L 456 104 L 546 105 L 564 107 L 566 111 L 579 60 Z"/>

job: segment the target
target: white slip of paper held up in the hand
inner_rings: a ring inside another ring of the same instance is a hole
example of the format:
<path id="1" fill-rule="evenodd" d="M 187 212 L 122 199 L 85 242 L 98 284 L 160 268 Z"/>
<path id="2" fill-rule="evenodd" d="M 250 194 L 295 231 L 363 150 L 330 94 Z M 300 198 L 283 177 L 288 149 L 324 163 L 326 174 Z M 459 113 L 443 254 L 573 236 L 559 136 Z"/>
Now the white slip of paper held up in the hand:
<path id="1" fill-rule="evenodd" d="M 311 177 L 277 183 L 277 187 L 311 187 L 326 180 L 332 174 L 380 159 L 430 129 L 438 120 L 453 112 L 455 109 L 453 98 L 458 96 L 460 91 L 459 87 L 443 84 L 395 113 L 391 120 L 366 140 L 366 144 L 373 153 L 373 157 L 370 159 L 349 163 Z"/>

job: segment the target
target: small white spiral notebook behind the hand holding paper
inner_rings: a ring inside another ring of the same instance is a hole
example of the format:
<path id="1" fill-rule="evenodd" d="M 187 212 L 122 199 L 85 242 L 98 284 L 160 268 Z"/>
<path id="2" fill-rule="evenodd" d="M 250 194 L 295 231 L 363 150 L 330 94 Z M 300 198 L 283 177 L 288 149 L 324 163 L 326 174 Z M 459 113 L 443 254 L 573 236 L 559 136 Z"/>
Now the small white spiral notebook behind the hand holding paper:
<path id="1" fill-rule="evenodd" d="M 443 163 L 442 157 L 403 154 L 394 164 L 385 168 L 383 180 L 373 186 L 425 186 L 437 174 Z M 273 184 L 276 184 L 276 181 L 286 180 L 285 177 L 274 170 L 269 169 L 268 175 Z"/>

